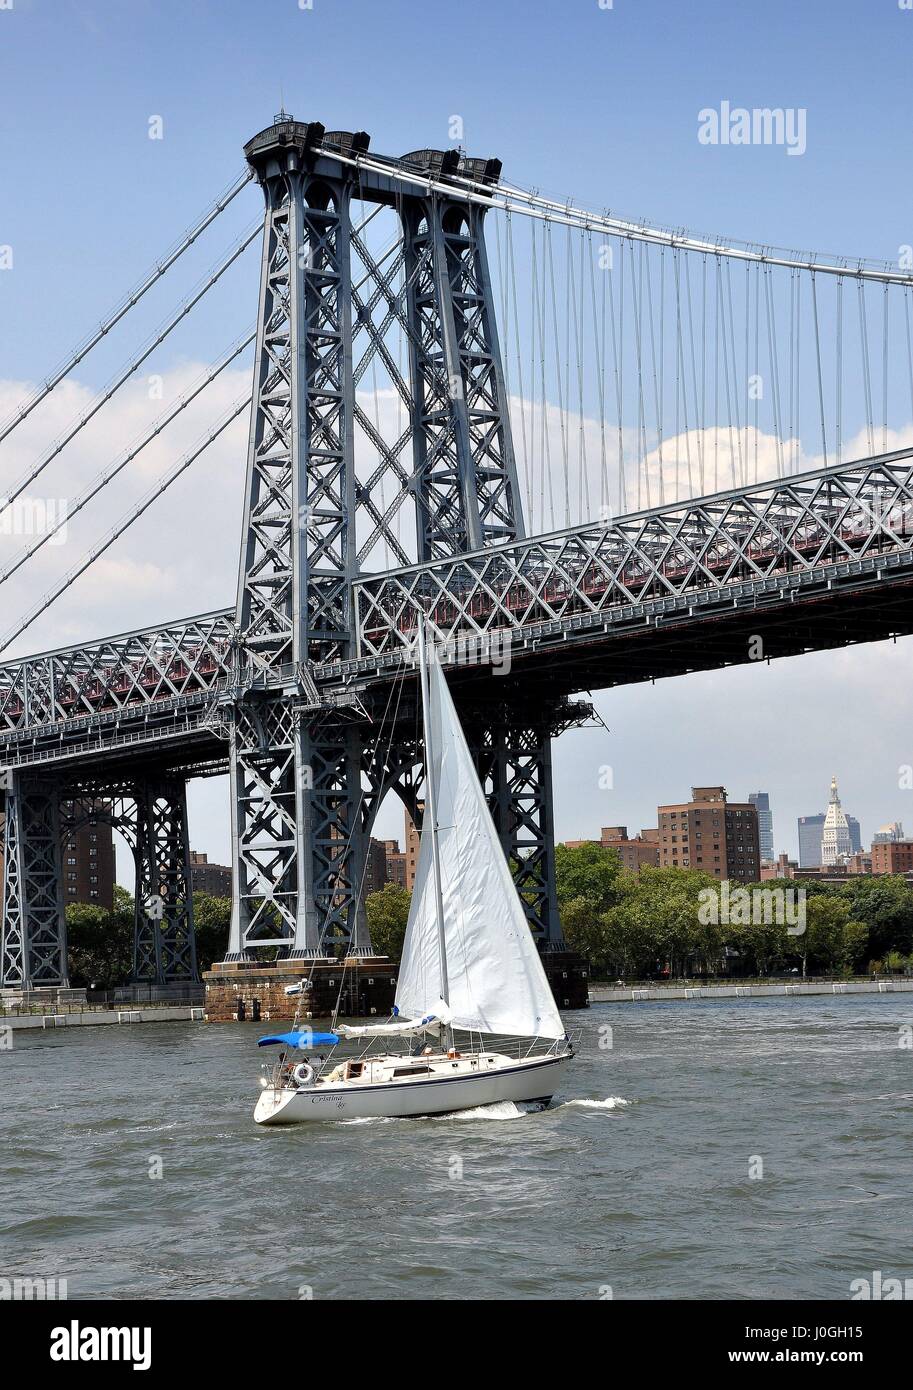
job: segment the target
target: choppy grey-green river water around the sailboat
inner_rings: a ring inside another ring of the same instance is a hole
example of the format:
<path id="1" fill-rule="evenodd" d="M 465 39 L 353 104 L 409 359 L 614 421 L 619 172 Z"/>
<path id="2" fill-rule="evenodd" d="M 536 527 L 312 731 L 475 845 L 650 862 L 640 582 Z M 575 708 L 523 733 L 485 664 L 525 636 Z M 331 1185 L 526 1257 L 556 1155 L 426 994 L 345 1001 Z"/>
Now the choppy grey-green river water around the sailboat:
<path id="1" fill-rule="evenodd" d="M 17 1033 L 1 1272 L 74 1298 L 845 1298 L 913 1273 L 912 1015 L 596 1006 L 543 1113 L 268 1130 L 260 1024 Z"/>

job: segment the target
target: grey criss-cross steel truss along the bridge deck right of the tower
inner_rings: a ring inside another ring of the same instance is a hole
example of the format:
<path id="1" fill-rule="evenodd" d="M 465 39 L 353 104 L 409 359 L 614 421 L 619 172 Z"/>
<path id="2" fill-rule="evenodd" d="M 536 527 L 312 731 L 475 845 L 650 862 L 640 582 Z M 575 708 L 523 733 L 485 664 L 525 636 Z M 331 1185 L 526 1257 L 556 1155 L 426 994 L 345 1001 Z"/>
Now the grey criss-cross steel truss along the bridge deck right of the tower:
<path id="1" fill-rule="evenodd" d="M 912 550 L 905 450 L 360 580 L 359 656 Z"/>

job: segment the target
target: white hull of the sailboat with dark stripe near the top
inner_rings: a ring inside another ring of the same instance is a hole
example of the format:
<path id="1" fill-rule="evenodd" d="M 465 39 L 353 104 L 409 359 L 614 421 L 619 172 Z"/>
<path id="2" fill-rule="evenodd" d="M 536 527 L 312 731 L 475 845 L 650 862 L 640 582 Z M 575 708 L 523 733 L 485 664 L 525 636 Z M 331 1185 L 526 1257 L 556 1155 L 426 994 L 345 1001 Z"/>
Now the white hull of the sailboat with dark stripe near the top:
<path id="1" fill-rule="evenodd" d="M 421 1115 L 450 1115 L 454 1111 L 493 1105 L 497 1101 L 548 1104 L 573 1052 L 525 1058 L 496 1070 L 459 1077 L 386 1081 L 318 1083 L 303 1087 L 267 1087 L 254 1109 L 258 1125 L 300 1125 L 307 1120 L 347 1120 Z"/>

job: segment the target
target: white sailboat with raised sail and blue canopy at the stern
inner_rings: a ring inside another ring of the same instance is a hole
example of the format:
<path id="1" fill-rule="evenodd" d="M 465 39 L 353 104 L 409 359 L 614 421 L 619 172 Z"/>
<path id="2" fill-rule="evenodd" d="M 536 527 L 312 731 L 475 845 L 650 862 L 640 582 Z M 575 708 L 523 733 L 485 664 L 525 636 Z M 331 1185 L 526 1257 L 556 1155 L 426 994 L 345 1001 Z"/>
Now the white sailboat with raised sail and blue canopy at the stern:
<path id="1" fill-rule="evenodd" d="M 548 1105 L 574 1056 L 424 624 L 418 656 L 425 813 L 393 1017 L 260 1038 L 283 1051 L 261 1081 L 258 1125 Z M 368 1047 L 295 1063 L 347 1038 Z M 402 1051 L 371 1052 L 396 1040 Z"/>

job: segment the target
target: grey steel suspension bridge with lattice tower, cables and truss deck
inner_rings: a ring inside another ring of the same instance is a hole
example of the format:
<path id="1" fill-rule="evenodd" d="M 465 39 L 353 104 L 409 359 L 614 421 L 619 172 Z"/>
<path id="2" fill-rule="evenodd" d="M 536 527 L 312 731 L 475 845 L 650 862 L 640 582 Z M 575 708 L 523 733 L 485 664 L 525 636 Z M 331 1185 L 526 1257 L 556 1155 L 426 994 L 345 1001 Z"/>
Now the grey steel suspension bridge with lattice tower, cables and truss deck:
<path id="1" fill-rule="evenodd" d="M 564 948 L 550 745 L 592 714 L 581 694 L 913 630 L 903 249 L 891 264 L 632 222 L 514 186 L 493 158 L 378 156 L 364 132 L 285 113 L 245 156 L 0 425 L 3 468 L 4 441 L 258 185 L 253 229 L 53 448 L 4 478 L 6 512 L 260 246 L 256 325 L 69 514 L 253 356 L 252 393 L 0 638 L 21 649 L 249 420 L 231 606 L 0 664 L 6 987 L 67 983 L 61 842 L 92 820 L 135 855 L 136 981 L 196 979 L 186 784 L 225 773 L 227 959 L 370 956 L 374 819 L 390 791 L 421 815 L 421 614 L 552 956 Z M 4 557 L 0 587 L 61 525 Z"/>

